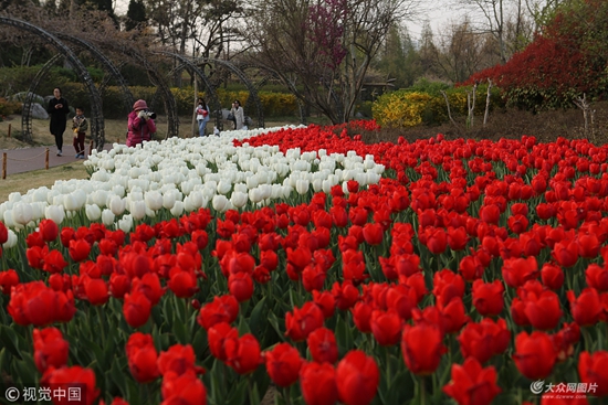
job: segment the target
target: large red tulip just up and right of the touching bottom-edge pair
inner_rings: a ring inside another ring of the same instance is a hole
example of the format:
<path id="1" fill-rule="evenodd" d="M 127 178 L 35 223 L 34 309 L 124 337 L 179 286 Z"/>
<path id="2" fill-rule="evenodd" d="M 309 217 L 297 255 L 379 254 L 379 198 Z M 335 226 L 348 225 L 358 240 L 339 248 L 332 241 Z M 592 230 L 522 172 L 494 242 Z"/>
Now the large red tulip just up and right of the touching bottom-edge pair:
<path id="1" fill-rule="evenodd" d="M 408 369 L 413 374 L 432 374 L 447 351 L 443 334 L 437 324 L 406 324 L 401 338 L 401 352 Z"/>

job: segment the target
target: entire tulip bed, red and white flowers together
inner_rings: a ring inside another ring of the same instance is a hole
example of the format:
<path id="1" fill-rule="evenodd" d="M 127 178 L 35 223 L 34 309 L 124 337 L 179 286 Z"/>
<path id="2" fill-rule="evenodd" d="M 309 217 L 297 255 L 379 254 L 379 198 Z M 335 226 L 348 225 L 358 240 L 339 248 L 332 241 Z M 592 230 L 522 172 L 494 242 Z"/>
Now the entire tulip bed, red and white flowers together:
<path id="1" fill-rule="evenodd" d="M 608 148 L 357 129 L 115 146 L 88 181 L 11 195 L 11 397 L 601 403 Z"/>

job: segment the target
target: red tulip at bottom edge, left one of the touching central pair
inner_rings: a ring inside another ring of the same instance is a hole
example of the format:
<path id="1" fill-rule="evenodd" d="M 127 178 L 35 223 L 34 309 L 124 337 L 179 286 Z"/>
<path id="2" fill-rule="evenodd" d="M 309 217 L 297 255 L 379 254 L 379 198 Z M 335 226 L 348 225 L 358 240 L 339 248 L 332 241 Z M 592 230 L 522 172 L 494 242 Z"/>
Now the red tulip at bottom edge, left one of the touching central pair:
<path id="1" fill-rule="evenodd" d="M 303 364 L 300 387 L 307 405 L 334 405 L 338 401 L 336 370 L 329 363 Z"/>

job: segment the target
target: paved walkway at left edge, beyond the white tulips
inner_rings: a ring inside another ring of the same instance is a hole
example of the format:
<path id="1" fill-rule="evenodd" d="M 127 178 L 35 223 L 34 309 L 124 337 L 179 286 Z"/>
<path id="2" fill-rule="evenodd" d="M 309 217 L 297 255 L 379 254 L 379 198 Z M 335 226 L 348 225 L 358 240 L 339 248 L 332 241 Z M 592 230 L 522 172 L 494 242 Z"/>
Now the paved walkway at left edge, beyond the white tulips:
<path id="1" fill-rule="evenodd" d="M 90 145 L 85 146 L 85 157 L 88 157 Z M 45 169 L 46 167 L 46 149 L 49 149 L 49 168 L 56 166 L 83 162 L 84 159 L 76 159 L 74 147 L 72 145 L 63 146 L 63 156 L 56 156 L 57 148 L 55 146 L 20 148 L 20 149 L 0 149 L 0 159 L 4 159 L 7 153 L 7 175 L 23 173 L 32 170 Z M 104 149 L 112 149 L 112 142 L 106 142 Z M 1 180 L 1 177 L 0 177 Z"/>

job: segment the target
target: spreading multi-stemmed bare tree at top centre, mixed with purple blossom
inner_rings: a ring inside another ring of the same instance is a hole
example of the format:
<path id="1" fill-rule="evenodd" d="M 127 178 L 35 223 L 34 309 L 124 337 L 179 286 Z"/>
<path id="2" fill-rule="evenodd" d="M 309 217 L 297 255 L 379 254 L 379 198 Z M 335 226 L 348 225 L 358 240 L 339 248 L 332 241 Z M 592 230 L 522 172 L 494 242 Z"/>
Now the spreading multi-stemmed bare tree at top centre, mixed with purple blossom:
<path id="1" fill-rule="evenodd" d="M 298 88 L 333 122 L 347 121 L 371 60 L 418 0 L 270 0 L 248 20 L 252 60 Z"/>

